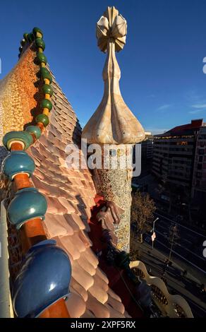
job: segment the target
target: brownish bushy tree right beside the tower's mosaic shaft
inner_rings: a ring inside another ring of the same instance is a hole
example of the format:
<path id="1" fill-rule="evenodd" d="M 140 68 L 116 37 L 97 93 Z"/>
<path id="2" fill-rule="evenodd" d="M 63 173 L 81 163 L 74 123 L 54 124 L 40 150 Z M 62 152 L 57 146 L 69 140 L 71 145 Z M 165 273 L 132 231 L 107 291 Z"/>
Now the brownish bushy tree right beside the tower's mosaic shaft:
<path id="1" fill-rule="evenodd" d="M 143 243 L 143 234 L 151 228 L 156 207 L 149 194 L 141 194 L 138 191 L 132 198 L 131 223 L 136 226 L 140 234 L 140 242 Z"/>

